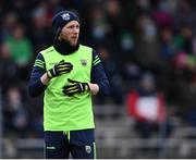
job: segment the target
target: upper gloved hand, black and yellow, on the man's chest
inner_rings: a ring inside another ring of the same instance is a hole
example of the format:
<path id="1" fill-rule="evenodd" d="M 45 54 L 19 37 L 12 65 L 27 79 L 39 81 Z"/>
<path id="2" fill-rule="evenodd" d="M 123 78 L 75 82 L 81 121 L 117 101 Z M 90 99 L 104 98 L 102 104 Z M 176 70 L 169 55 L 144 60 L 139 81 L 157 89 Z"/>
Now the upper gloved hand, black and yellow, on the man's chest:
<path id="1" fill-rule="evenodd" d="M 52 78 L 65 73 L 70 73 L 73 70 L 73 65 L 70 62 L 60 61 L 52 69 L 47 71 L 48 78 Z"/>

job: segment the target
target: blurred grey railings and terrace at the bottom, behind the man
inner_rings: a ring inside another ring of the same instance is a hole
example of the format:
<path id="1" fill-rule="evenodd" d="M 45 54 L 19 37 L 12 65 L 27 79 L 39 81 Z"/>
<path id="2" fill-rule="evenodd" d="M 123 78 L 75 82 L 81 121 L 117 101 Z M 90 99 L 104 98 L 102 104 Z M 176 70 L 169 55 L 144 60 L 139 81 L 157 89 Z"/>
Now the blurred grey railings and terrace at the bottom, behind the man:
<path id="1" fill-rule="evenodd" d="M 115 109 L 121 109 L 121 111 Z M 196 128 L 176 123 L 169 138 L 140 138 L 124 107 L 96 106 L 98 158 L 196 158 Z M 173 118 L 176 121 L 176 118 Z M 44 158 L 42 138 L 4 138 L 1 158 Z"/>

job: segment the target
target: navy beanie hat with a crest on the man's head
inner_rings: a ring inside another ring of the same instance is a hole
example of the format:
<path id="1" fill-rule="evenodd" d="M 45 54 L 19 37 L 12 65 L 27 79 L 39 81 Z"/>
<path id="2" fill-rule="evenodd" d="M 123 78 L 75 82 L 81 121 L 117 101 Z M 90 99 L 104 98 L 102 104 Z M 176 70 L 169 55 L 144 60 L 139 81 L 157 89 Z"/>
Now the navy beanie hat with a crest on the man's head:
<path id="1" fill-rule="evenodd" d="M 78 16 L 71 11 L 61 11 L 52 17 L 52 29 L 58 35 L 61 29 L 71 21 L 79 22 Z"/>

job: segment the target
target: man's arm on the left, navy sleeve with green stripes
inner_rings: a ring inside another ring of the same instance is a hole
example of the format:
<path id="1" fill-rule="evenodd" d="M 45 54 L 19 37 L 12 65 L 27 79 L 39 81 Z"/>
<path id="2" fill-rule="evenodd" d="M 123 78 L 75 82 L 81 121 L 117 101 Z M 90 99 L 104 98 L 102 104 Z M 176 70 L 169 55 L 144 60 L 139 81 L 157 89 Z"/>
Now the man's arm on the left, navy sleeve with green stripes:
<path id="1" fill-rule="evenodd" d="M 46 74 L 46 65 L 45 60 L 40 53 L 38 53 L 34 67 L 32 71 L 29 85 L 28 85 L 28 93 L 32 97 L 37 97 L 45 91 L 47 88 L 47 84 L 49 78 Z"/>

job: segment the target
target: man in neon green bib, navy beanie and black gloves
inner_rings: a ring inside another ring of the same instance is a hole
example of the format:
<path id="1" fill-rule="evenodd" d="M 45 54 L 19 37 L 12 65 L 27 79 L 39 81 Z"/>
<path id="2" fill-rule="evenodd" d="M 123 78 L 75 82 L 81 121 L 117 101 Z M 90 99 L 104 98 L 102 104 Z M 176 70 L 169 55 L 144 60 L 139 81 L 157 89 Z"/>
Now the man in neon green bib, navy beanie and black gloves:
<path id="1" fill-rule="evenodd" d="M 46 158 L 95 158 L 91 95 L 108 95 L 109 82 L 98 54 L 79 45 L 79 20 L 70 11 L 52 19 L 53 46 L 38 53 L 29 95 L 44 97 Z"/>

